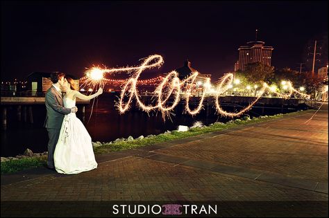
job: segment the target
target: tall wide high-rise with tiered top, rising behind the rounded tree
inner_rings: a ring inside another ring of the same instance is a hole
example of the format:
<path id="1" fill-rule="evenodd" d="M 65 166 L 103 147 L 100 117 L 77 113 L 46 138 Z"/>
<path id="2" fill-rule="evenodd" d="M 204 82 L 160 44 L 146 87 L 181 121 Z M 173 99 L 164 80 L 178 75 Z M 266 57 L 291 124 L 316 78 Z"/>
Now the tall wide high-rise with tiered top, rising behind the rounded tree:
<path id="1" fill-rule="evenodd" d="M 264 46 L 265 42 L 247 42 L 246 46 L 240 46 L 239 61 L 235 63 L 235 71 L 244 71 L 246 64 L 260 62 L 271 66 L 272 46 Z"/>

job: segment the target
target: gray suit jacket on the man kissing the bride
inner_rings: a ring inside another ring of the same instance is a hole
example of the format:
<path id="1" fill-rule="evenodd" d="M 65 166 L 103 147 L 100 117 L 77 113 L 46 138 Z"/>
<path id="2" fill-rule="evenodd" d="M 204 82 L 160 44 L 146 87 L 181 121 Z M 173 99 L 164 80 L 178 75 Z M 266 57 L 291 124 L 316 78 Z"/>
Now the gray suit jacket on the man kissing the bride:
<path id="1" fill-rule="evenodd" d="M 60 129 L 60 127 L 62 127 L 64 115 L 71 113 L 71 109 L 64 107 L 62 96 L 55 87 L 51 86 L 48 89 L 45 104 L 47 108 L 47 118 L 44 120 L 44 127 Z"/>

